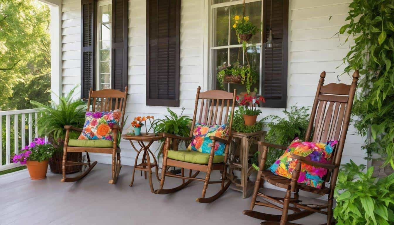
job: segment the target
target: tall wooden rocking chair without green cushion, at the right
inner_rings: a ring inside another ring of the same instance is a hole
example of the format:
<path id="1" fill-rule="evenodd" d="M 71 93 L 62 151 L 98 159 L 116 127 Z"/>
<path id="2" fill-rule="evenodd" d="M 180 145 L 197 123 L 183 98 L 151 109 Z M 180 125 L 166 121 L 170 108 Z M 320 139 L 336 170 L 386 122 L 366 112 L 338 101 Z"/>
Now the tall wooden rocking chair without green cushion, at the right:
<path id="1" fill-rule="evenodd" d="M 355 71 L 355 73 L 353 73 L 353 81 L 351 85 L 332 83 L 323 86 L 324 78 L 325 72 L 320 74 L 320 80 L 312 106 L 312 112 L 307 133 L 305 135 L 305 141 L 310 139 L 311 132 L 313 130 L 313 123 L 315 123 L 315 126 L 314 135 L 311 141 L 327 142 L 331 140 L 338 140 L 338 143 L 333 152 L 332 164 L 322 164 L 319 162 L 310 161 L 305 157 L 293 154 L 292 158 L 296 158 L 298 160 L 298 163 L 296 165 L 296 169 L 292 173 L 292 178 L 287 179 L 284 177 L 280 177 L 271 173 L 271 171 L 264 170 L 268 147 L 273 147 L 276 149 L 286 149 L 287 147 L 258 141 L 257 144 L 259 147 L 259 151 L 262 152 L 262 157 L 255 182 L 250 210 L 244 210 L 243 214 L 254 218 L 266 220 L 265 222 L 261 223 L 262 225 L 296 225 L 296 223 L 288 223 L 288 221 L 293 221 L 303 218 L 305 216 L 309 216 L 314 212 L 327 215 L 327 222 L 323 224 L 330 225 L 333 223 L 332 208 L 335 183 L 338 177 L 339 166 L 341 164 L 346 134 L 348 132 L 350 113 L 353 106 L 353 99 L 357 88 L 357 82 L 359 79 L 359 72 Z M 323 183 L 322 189 L 317 189 L 307 186 L 305 184 L 297 183 L 301 170 L 301 162 L 304 164 L 312 165 L 314 167 L 322 167 L 327 169 L 328 173 L 325 182 L 329 183 L 329 186 L 326 187 Z M 287 190 L 285 197 L 272 197 L 269 195 L 265 195 L 264 193 L 258 192 L 260 187 L 262 187 L 264 181 L 267 181 L 275 186 L 285 188 Z M 318 193 L 320 195 L 328 194 L 327 204 L 301 204 L 301 200 L 299 200 L 298 195 L 300 189 L 307 192 Z M 292 192 L 294 193 L 294 197 L 291 197 Z M 283 205 L 283 207 L 279 207 L 268 201 L 256 201 L 257 196 Z M 290 204 L 292 204 L 293 206 L 290 206 Z M 253 211 L 255 205 L 276 208 L 282 211 L 282 215 L 272 215 Z M 327 209 L 327 211 L 322 211 L 323 209 Z M 292 210 L 294 211 L 294 213 L 288 214 L 288 210 Z"/>

